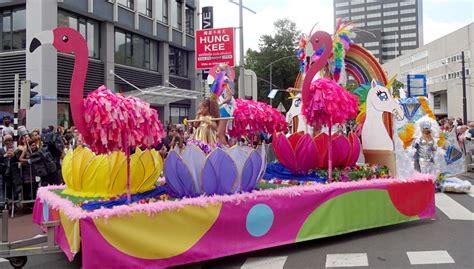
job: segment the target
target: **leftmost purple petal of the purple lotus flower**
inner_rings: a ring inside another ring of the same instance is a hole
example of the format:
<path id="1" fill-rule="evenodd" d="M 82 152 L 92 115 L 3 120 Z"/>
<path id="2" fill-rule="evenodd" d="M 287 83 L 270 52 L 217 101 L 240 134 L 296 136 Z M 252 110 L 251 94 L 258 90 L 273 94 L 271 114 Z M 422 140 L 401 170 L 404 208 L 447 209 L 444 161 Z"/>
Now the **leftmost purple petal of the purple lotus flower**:
<path id="1" fill-rule="evenodd" d="M 195 196 L 192 176 L 176 151 L 168 154 L 164 165 L 166 182 L 178 197 Z"/>

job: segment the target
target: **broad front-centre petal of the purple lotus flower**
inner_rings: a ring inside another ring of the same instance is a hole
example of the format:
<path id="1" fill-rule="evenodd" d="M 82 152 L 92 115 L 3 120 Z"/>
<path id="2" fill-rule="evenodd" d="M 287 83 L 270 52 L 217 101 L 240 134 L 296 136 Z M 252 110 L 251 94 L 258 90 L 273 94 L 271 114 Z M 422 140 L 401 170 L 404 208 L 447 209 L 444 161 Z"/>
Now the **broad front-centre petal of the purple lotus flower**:
<path id="1" fill-rule="evenodd" d="M 237 179 L 234 160 L 221 149 L 215 149 L 207 157 L 202 169 L 202 188 L 208 195 L 232 193 Z"/>

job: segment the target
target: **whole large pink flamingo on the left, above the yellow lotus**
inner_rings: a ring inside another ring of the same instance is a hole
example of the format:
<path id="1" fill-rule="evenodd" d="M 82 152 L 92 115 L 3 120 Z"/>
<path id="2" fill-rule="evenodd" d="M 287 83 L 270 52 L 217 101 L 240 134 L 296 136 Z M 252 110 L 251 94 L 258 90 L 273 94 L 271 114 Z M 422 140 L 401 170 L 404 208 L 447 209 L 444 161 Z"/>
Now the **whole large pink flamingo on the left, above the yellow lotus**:
<path id="1" fill-rule="evenodd" d="M 161 141 L 165 134 L 158 113 L 148 103 L 114 94 L 105 86 L 83 99 L 89 60 L 87 43 L 78 31 L 65 27 L 43 31 L 32 39 L 30 53 L 45 44 L 53 45 L 59 52 L 75 55 L 69 93 L 74 124 L 94 152 L 125 152 L 127 198 L 130 201 L 130 147 L 151 147 Z"/>

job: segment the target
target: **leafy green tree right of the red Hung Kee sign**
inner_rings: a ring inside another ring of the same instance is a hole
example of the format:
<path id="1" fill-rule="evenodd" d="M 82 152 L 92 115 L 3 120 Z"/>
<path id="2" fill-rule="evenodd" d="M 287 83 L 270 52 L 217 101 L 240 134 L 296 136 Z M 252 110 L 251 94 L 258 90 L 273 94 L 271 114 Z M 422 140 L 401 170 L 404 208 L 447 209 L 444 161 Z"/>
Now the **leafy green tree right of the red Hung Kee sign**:
<path id="1" fill-rule="evenodd" d="M 266 34 L 260 37 L 258 50 L 247 50 L 246 69 L 253 70 L 258 79 L 258 100 L 269 103 L 268 94 L 273 88 L 286 89 L 293 87 L 298 76 L 299 61 L 295 52 L 298 49 L 298 42 L 301 31 L 296 28 L 296 24 L 289 19 L 279 19 L 274 22 L 275 34 Z M 291 56 L 294 57 L 291 57 Z M 286 59 L 282 59 L 285 58 Z M 272 84 L 270 87 L 270 66 L 272 64 Z M 283 103 L 286 109 L 291 106 L 288 95 L 280 92 L 272 102 L 273 107 Z"/>

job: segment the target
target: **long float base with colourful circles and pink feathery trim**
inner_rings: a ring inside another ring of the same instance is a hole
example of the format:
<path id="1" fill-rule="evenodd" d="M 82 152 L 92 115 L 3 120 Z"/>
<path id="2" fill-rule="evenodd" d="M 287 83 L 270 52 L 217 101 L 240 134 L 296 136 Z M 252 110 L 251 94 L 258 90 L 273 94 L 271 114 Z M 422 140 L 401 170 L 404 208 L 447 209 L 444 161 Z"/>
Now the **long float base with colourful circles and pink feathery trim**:
<path id="1" fill-rule="evenodd" d="M 84 210 L 64 186 L 38 191 L 33 221 L 59 221 L 57 244 L 83 268 L 162 268 L 434 218 L 432 176 L 303 186 Z"/>

